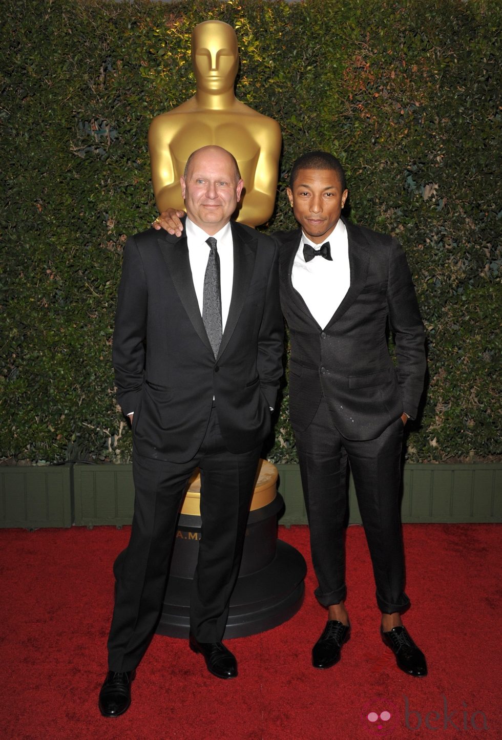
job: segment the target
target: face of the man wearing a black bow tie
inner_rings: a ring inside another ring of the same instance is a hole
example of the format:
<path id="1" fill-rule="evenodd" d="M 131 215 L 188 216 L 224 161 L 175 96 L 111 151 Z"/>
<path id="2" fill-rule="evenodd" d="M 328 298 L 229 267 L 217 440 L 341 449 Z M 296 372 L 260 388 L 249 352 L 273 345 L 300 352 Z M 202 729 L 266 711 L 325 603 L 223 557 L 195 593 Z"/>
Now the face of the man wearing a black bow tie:
<path id="1" fill-rule="evenodd" d="M 335 229 L 347 195 L 334 169 L 298 169 L 295 182 L 287 188 L 295 219 L 315 244 L 324 242 Z"/>

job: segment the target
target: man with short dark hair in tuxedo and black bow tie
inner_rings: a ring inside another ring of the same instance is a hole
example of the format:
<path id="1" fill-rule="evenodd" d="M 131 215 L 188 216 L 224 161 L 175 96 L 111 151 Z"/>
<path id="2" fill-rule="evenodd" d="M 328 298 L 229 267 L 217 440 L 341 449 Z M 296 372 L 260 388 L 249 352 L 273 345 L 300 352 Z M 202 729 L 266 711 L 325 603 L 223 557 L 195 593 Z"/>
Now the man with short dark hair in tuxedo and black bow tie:
<path id="1" fill-rule="evenodd" d="M 355 480 L 381 610 L 381 636 L 401 670 L 426 676 L 424 654 L 401 622 L 404 556 L 399 486 L 404 425 L 424 389 L 424 326 L 406 257 L 389 236 L 354 226 L 341 211 L 344 169 L 327 152 L 292 166 L 288 198 L 301 226 L 281 244 L 281 306 L 290 329 L 290 420 L 310 527 L 315 595 L 328 621 L 312 665 L 338 662 L 349 638 L 345 608 L 346 471 Z M 181 212 L 161 225 L 181 233 Z M 160 227 L 160 226 L 158 226 Z M 387 347 L 395 335 L 397 367 Z"/>

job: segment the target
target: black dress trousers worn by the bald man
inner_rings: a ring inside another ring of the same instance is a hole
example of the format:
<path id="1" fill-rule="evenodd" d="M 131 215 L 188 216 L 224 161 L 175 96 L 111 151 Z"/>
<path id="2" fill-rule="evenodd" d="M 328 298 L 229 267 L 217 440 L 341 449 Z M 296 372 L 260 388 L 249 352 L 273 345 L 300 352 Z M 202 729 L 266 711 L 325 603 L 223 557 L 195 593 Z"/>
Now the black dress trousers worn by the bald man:
<path id="1" fill-rule="evenodd" d="M 238 577 L 261 445 L 243 454 L 225 447 L 216 409 L 193 460 L 133 454 L 134 517 L 108 639 L 109 670 L 133 670 L 161 613 L 178 512 L 194 468 L 201 471 L 201 540 L 190 601 L 190 630 L 219 642 Z"/>

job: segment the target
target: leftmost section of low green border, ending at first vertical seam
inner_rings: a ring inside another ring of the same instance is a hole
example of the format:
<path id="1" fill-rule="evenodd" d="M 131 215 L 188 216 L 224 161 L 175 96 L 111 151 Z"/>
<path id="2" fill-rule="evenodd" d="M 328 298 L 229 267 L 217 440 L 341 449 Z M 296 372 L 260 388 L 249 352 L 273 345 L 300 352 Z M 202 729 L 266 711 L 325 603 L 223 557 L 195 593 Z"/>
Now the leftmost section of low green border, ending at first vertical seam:
<path id="1" fill-rule="evenodd" d="M 71 466 L 0 467 L 0 527 L 71 527 Z"/>

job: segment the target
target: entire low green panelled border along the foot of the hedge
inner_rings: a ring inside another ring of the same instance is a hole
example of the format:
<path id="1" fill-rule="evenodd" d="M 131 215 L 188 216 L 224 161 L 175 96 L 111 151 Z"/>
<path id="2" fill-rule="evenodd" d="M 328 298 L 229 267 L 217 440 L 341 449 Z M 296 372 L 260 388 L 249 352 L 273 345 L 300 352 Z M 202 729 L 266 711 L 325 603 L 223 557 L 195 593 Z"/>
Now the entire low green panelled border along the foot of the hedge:
<path id="1" fill-rule="evenodd" d="M 0 467 L 0 527 L 130 524 L 132 465 Z M 277 465 L 281 524 L 307 524 L 299 465 Z M 361 517 L 352 479 L 350 524 Z M 502 463 L 406 463 L 403 522 L 502 522 Z"/>

